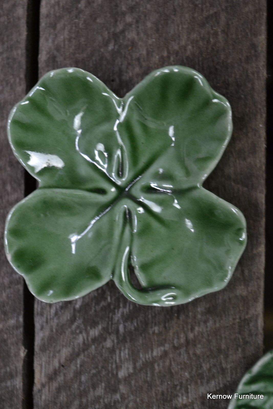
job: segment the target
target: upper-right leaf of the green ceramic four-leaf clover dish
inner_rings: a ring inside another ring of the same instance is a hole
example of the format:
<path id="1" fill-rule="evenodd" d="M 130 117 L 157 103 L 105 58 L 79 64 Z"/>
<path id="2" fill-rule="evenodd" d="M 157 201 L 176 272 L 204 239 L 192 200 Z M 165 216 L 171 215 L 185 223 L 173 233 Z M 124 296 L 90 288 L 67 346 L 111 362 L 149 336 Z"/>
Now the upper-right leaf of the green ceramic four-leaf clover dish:
<path id="1" fill-rule="evenodd" d="M 138 131 L 135 139 L 142 143 L 142 149 L 138 149 L 137 156 L 147 155 L 150 140 L 155 146 L 163 138 L 169 142 L 168 149 L 164 152 L 161 149 L 156 175 L 152 173 L 155 161 L 150 160 L 144 176 L 158 177 L 158 169 L 164 169 L 160 178 L 166 183 L 179 187 L 201 184 L 230 139 L 231 108 L 226 98 L 212 90 L 198 72 L 186 67 L 166 67 L 147 76 L 126 95 L 124 103 L 130 99 L 122 125 L 129 123 L 131 129 Z M 140 124 L 149 128 L 154 140 L 146 128 L 141 131 Z"/>

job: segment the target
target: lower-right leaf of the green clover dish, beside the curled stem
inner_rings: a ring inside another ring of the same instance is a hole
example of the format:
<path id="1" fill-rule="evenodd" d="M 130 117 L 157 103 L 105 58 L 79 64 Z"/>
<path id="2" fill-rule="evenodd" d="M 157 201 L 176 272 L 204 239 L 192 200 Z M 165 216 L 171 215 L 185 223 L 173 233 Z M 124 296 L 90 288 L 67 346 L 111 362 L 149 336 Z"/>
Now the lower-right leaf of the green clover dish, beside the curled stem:
<path id="1" fill-rule="evenodd" d="M 126 260 L 143 288 L 169 291 L 160 297 L 150 291 L 144 297 L 144 290 L 130 285 L 128 270 L 122 276 L 127 266 L 121 263 L 114 279 L 126 297 L 156 305 L 162 305 L 163 299 L 164 304 L 174 305 L 220 290 L 229 281 L 246 238 L 237 208 L 196 187 L 146 193 L 131 213 L 135 219 L 131 239 L 121 240 Z"/>

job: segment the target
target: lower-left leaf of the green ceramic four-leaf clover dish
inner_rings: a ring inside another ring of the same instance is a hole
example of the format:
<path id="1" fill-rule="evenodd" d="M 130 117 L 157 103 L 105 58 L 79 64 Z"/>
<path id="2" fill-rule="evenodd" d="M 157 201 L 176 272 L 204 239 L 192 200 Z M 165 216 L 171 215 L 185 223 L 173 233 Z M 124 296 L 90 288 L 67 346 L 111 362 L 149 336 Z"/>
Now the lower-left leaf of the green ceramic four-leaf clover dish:
<path id="1" fill-rule="evenodd" d="M 74 189 L 37 189 L 14 208 L 8 254 L 36 297 L 74 299 L 110 279 L 115 260 L 115 246 L 106 240 L 115 233 L 110 208 L 104 196 Z"/>

